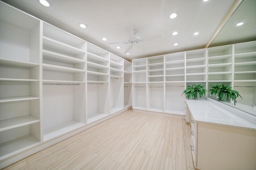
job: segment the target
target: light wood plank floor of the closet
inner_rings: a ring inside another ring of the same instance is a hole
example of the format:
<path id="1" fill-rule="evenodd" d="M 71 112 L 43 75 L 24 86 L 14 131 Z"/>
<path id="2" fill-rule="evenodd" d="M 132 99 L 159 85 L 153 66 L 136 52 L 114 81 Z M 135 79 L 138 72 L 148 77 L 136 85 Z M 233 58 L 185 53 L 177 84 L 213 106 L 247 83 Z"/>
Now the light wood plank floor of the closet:
<path id="1" fill-rule="evenodd" d="M 50 146 L 10 170 L 194 170 L 183 119 L 126 111 Z"/>

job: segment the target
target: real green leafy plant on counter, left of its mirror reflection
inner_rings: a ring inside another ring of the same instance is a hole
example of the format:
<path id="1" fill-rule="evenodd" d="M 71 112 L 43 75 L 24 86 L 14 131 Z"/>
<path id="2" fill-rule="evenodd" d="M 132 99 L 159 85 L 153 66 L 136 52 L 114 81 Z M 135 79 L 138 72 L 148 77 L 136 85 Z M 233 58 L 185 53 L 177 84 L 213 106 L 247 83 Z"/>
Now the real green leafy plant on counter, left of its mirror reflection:
<path id="1" fill-rule="evenodd" d="M 200 98 L 206 94 L 206 89 L 204 89 L 204 85 L 200 84 L 193 84 L 192 86 L 187 86 L 187 88 L 183 91 L 181 95 L 186 95 L 188 99 L 192 97 L 192 99 L 197 99 L 199 96 Z"/>

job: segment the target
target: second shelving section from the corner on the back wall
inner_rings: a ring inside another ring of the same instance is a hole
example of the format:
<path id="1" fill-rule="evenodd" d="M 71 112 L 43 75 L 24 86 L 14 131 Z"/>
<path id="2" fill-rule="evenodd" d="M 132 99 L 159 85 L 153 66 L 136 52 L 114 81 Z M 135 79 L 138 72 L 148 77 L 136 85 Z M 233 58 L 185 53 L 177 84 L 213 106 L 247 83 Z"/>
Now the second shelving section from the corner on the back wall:
<path id="1" fill-rule="evenodd" d="M 147 110 L 164 111 L 164 55 L 147 58 Z"/>

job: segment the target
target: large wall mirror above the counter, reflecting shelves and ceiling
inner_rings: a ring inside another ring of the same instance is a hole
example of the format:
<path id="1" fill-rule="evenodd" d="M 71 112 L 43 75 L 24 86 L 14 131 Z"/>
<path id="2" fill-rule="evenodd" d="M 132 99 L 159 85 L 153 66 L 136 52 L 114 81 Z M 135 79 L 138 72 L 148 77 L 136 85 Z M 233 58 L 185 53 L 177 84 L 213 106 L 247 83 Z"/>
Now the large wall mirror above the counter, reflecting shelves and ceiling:
<path id="1" fill-rule="evenodd" d="M 209 45 L 208 72 L 222 71 L 223 74 L 208 75 L 208 90 L 211 89 L 211 84 L 223 83 L 225 86 L 232 87 L 232 89 L 239 92 L 242 99 L 238 97 L 236 105 L 229 101 L 220 102 L 256 116 L 256 42 L 234 45 L 234 47 L 229 45 L 256 40 L 255 16 L 256 0 L 243 0 Z M 240 22 L 244 24 L 236 26 Z M 218 47 L 220 45 L 225 46 L 220 48 Z M 214 59 L 214 57 L 210 58 L 218 55 L 218 53 L 223 55 L 220 58 L 224 64 L 222 67 L 210 67 L 210 64 L 220 61 Z M 232 62 L 234 64 L 228 64 Z M 219 77 L 216 78 L 216 76 Z M 216 79 L 220 81 L 214 82 Z M 217 98 L 216 96 L 210 96 L 209 91 L 208 97 Z"/>

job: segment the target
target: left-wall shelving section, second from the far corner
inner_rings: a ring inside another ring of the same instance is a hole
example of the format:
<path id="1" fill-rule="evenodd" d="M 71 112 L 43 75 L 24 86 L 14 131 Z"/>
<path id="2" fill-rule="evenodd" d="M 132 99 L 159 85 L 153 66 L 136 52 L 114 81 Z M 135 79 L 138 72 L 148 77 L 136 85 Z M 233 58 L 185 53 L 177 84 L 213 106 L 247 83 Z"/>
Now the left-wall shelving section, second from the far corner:
<path id="1" fill-rule="evenodd" d="M 110 114 L 124 108 L 124 59 L 110 53 Z"/>

